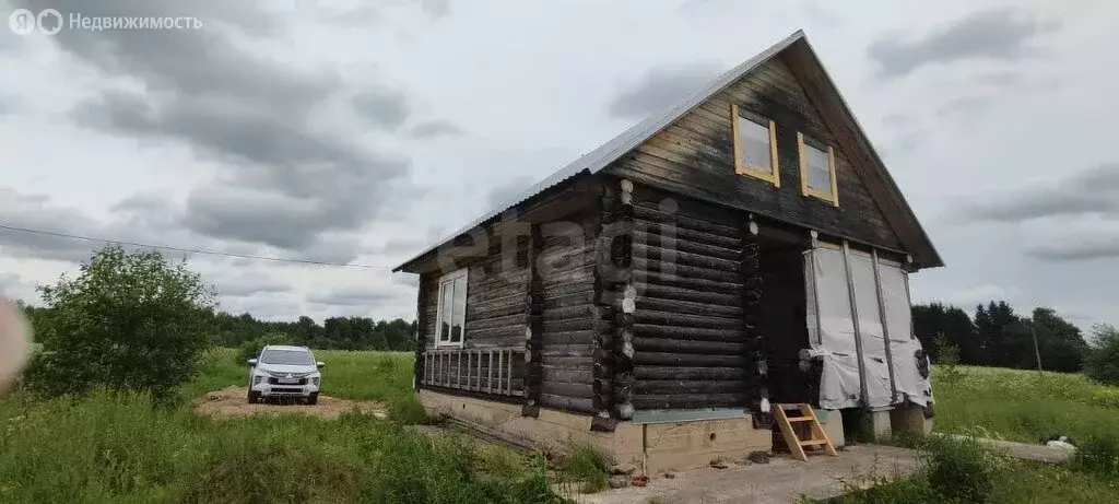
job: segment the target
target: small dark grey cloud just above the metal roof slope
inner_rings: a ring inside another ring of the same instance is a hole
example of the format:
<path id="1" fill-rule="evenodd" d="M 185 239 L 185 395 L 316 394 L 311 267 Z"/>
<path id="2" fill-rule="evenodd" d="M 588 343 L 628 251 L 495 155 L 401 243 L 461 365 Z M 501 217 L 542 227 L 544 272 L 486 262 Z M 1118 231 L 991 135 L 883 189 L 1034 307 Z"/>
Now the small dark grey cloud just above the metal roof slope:
<path id="1" fill-rule="evenodd" d="M 718 69 L 713 63 L 653 67 L 632 88 L 611 100 L 606 112 L 614 118 L 645 119 L 695 92 L 718 74 Z"/>

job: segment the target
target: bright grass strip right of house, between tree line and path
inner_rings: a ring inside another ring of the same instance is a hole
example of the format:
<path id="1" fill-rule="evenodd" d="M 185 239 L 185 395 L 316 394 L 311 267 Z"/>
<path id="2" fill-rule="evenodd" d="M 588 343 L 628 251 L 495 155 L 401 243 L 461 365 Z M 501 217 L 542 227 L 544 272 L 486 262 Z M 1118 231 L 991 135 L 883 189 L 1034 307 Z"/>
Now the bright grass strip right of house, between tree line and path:
<path id="1" fill-rule="evenodd" d="M 1119 388 L 1080 374 L 990 367 L 958 367 L 956 381 L 933 366 L 939 432 L 1038 442 L 1050 435 L 1073 440 L 1115 432 Z"/>

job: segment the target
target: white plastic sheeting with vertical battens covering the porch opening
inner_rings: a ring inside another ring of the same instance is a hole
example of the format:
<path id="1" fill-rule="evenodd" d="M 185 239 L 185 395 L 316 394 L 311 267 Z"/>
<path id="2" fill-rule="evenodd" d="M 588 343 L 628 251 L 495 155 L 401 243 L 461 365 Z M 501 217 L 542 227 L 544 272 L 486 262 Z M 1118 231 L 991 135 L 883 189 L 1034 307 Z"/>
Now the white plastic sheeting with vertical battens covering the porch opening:
<path id="1" fill-rule="evenodd" d="M 863 383 L 859 376 L 859 354 L 856 334 L 862 343 L 862 361 L 866 374 L 866 405 L 884 408 L 894 403 L 893 388 L 899 398 L 904 394 L 921 405 L 931 399 L 931 386 L 921 377 L 914 357 L 921 344 L 912 335 L 909 289 L 900 264 L 878 262 L 875 281 L 871 255 L 850 252 L 850 277 L 854 286 L 856 333 L 848 288 L 848 264 L 841 250 L 817 248 L 806 253 L 805 279 L 808 293 L 807 325 L 810 354 L 822 361 L 820 407 L 824 409 L 856 408 L 862 404 Z M 882 289 L 883 320 L 878 304 Z M 883 321 L 885 324 L 883 324 Z M 886 355 L 888 332 L 891 358 Z M 891 372 L 894 383 L 891 384 Z"/>

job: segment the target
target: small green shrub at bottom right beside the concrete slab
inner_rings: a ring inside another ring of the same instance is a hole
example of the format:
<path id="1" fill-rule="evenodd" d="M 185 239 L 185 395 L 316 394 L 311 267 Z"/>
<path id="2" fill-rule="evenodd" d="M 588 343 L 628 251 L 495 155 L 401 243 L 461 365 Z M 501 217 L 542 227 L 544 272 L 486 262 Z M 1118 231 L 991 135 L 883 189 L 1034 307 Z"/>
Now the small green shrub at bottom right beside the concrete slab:
<path id="1" fill-rule="evenodd" d="M 930 437 L 923 442 L 923 473 L 943 502 L 986 503 L 1006 458 L 974 438 Z"/>

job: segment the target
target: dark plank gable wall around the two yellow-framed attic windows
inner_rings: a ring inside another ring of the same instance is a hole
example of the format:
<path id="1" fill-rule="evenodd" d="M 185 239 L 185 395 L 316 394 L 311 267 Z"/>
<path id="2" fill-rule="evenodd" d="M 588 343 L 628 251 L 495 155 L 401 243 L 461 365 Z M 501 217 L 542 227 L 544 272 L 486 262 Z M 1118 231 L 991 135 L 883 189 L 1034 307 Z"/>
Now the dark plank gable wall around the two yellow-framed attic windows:
<path id="1" fill-rule="evenodd" d="M 732 104 L 777 123 L 780 188 L 735 174 Z M 797 132 L 835 147 L 838 208 L 800 194 Z M 822 233 L 902 250 L 848 156 L 836 144 L 817 109 L 780 58 L 763 64 L 685 114 L 615 161 L 610 171 L 639 184 L 747 209 Z"/>

